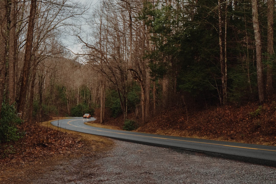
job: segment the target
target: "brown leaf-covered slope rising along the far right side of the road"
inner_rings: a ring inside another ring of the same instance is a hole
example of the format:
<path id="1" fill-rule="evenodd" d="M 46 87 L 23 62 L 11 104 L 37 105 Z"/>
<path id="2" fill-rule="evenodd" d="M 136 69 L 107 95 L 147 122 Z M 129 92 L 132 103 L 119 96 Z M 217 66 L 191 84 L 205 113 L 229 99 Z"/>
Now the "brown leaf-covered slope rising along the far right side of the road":
<path id="1" fill-rule="evenodd" d="M 187 114 L 188 113 L 188 114 Z M 175 106 L 162 111 L 136 131 L 231 142 L 276 145 L 276 103 L 190 110 Z M 97 117 L 96 112 L 96 117 Z M 107 115 L 108 116 L 108 115 Z M 133 119 L 133 114 L 128 118 Z M 138 119 L 139 121 L 139 119 Z M 122 127 L 123 118 L 107 118 L 105 125 Z"/>

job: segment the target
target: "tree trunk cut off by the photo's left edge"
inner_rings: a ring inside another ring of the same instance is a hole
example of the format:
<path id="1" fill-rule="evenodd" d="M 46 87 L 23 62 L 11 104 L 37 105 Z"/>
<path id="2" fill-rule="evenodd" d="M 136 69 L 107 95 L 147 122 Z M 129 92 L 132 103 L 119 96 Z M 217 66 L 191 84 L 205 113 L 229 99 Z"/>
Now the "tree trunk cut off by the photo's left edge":
<path id="1" fill-rule="evenodd" d="M 4 98 L 6 73 L 6 33 L 7 33 L 7 7 L 6 1 L 0 1 L 0 115 Z"/>

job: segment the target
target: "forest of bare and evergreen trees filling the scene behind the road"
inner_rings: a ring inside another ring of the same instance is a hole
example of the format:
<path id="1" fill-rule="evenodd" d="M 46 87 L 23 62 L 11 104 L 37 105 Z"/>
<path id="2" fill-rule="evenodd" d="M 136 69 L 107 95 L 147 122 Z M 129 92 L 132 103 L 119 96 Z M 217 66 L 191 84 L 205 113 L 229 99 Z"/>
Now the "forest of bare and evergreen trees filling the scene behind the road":
<path id="1" fill-rule="evenodd" d="M 274 0 L 0 2 L 0 142 L 22 122 L 275 100 Z M 110 112 L 110 113 L 107 113 Z"/>

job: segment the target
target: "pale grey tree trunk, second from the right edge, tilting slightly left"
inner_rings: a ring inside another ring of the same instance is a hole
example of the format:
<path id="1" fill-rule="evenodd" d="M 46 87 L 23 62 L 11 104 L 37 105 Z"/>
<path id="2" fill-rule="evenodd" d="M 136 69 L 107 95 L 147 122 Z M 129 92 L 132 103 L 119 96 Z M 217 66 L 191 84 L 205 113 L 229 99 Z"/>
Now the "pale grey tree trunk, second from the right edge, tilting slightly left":
<path id="1" fill-rule="evenodd" d="M 262 66 L 262 42 L 261 42 L 261 31 L 260 31 L 259 19 L 258 19 L 257 0 L 252 0 L 252 19 L 253 19 L 253 28 L 254 28 L 255 46 L 256 46 L 259 102 L 262 104 L 264 103 L 264 81 L 263 81 L 263 66 Z"/>

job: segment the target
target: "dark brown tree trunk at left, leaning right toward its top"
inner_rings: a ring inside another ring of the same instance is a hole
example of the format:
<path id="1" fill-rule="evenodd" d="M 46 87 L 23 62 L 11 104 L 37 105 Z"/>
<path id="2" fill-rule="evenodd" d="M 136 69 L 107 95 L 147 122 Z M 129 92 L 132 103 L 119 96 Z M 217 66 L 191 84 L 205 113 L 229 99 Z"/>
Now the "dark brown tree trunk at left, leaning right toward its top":
<path id="1" fill-rule="evenodd" d="M 28 88 L 28 78 L 30 74 L 30 66 L 31 66 L 31 51 L 33 47 L 33 32 L 35 26 L 35 16 L 36 16 L 36 0 L 31 0 L 31 8 L 30 8 L 30 17 L 29 17 L 29 25 L 27 31 L 27 39 L 26 39 L 26 49 L 25 49 L 25 57 L 24 57 L 24 65 L 22 72 L 22 81 L 18 99 L 18 107 L 17 110 L 19 113 L 22 113 L 25 106 L 25 98 Z"/>

